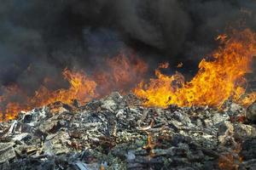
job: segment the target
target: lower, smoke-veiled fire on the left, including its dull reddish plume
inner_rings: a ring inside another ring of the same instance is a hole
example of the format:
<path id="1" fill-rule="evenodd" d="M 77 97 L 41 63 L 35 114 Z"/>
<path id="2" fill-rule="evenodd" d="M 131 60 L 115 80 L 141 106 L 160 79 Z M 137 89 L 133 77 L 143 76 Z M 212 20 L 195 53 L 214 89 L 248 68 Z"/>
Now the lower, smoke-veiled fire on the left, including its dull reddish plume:
<path id="1" fill-rule="evenodd" d="M 76 99 L 84 105 L 90 99 L 110 94 L 113 90 L 128 92 L 134 88 L 132 85 L 143 78 L 146 71 L 147 65 L 142 59 L 120 54 L 107 59 L 106 64 L 102 65 L 102 71 L 95 71 L 92 75 L 65 69 L 62 76 L 69 83 L 69 88 L 50 90 L 44 85 L 54 82 L 49 77 L 44 78 L 44 83 L 32 97 L 25 94 L 18 85 L 3 88 L 3 95 L 0 96 L 0 121 L 14 119 L 20 111 L 30 111 L 56 101 L 71 105 Z"/>

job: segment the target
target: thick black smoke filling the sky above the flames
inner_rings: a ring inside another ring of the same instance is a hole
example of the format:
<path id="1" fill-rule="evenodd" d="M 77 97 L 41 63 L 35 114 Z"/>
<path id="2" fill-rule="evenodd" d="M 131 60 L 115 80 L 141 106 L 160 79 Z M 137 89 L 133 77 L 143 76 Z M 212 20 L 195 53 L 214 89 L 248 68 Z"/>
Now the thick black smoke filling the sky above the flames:
<path id="1" fill-rule="evenodd" d="M 122 50 L 151 67 L 169 60 L 195 70 L 228 26 L 255 29 L 255 13 L 253 0 L 2 0 L 0 83 L 30 91 L 45 76 L 61 82 L 66 66 L 91 71 Z"/>

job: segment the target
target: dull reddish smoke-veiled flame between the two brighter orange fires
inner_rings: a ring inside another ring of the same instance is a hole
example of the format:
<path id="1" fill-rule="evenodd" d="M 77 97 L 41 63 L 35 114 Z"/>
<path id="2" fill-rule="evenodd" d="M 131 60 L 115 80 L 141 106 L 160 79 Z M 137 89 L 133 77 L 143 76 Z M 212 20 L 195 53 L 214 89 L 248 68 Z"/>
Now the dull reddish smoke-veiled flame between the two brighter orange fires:
<path id="1" fill-rule="evenodd" d="M 106 64 L 107 69 L 103 66 L 102 70 L 96 71 L 93 75 L 101 96 L 113 90 L 120 93 L 128 92 L 143 79 L 148 70 L 146 63 L 134 55 L 128 58 L 124 54 L 119 54 L 117 57 L 107 59 Z"/>

